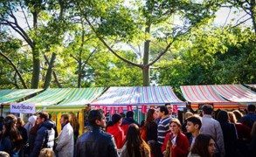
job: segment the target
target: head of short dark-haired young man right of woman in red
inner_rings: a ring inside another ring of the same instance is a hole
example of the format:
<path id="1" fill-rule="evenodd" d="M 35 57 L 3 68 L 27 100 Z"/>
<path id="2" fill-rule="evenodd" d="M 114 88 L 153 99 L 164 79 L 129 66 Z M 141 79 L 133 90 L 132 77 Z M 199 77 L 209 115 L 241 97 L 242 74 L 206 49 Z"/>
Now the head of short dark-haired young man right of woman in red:
<path id="1" fill-rule="evenodd" d="M 199 132 L 201 126 L 202 126 L 202 121 L 198 116 L 190 116 L 187 120 L 187 132 L 188 133 L 195 133 Z"/>

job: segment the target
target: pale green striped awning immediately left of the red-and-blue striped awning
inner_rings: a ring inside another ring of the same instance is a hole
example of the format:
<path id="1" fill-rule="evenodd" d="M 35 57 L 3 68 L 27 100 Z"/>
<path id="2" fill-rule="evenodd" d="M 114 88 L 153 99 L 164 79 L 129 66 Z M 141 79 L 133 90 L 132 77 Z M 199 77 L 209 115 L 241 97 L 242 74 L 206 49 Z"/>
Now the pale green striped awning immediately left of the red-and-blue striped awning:
<path id="1" fill-rule="evenodd" d="M 94 99 L 98 98 L 102 92 L 104 92 L 104 87 L 94 87 L 94 88 L 75 88 L 73 92 L 63 101 L 61 101 L 57 106 L 51 107 L 79 107 L 85 106 L 91 103 Z"/>

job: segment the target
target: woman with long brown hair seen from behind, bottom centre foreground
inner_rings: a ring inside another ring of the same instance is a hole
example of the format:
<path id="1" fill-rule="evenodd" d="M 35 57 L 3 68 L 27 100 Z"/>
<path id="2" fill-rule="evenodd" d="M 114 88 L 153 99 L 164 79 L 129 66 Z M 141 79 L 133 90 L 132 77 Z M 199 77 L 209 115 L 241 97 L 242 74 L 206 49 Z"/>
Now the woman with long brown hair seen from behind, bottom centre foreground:
<path id="1" fill-rule="evenodd" d="M 136 124 L 128 126 L 126 142 L 121 148 L 121 157 L 150 157 L 149 145 L 142 140 L 140 128 Z"/>

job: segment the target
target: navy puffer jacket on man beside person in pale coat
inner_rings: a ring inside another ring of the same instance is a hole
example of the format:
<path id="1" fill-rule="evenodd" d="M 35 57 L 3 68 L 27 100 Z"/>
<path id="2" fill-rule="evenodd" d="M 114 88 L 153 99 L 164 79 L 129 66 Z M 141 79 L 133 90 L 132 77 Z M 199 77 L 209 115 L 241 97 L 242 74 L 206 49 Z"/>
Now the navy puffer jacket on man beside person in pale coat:
<path id="1" fill-rule="evenodd" d="M 38 156 L 40 150 L 44 147 L 52 148 L 54 145 L 54 135 L 53 130 L 54 124 L 47 120 L 44 121 L 39 127 L 35 138 L 33 150 L 31 152 L 31 157 Z"/>

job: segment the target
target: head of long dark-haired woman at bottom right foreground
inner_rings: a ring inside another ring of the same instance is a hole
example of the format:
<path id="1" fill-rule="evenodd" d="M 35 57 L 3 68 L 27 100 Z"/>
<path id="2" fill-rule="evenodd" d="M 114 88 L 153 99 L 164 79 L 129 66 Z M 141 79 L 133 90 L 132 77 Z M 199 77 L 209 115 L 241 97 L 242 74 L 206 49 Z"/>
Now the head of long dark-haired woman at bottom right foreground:
<path id="1" fill-rule="evenodd" d="M 193 147 L 191 154 L 198 154 L 199 156 L 211 157 L 215 153 L 215 142 L 209 134 L 199 134 Z"/>

